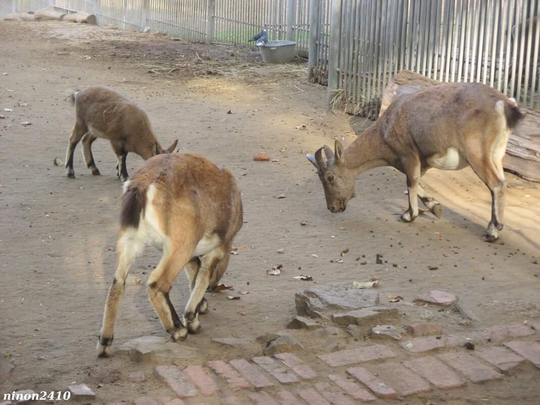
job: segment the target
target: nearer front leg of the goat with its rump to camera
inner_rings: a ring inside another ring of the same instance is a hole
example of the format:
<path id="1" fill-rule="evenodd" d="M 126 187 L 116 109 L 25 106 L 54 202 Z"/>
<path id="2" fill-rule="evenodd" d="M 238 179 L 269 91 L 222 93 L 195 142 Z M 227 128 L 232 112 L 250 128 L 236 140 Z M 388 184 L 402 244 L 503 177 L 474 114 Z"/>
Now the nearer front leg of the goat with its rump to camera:
<path id="1" fill-rule="evenodd" d="M 201 313 L 201 309 L 208 308 L 208 302 L 203 299 L 204 293 L 210 283 L 211 275 L 216 271 L 219 262 L 225 257 L 227 257 L 225 253 L 220 248 L 216 248 L 203 255 L 200 259 L 201 265 L 197 273 L 197 279 L 184 312 L 184 322 L 190 333 L 200 332 L 199 313 Z"/>

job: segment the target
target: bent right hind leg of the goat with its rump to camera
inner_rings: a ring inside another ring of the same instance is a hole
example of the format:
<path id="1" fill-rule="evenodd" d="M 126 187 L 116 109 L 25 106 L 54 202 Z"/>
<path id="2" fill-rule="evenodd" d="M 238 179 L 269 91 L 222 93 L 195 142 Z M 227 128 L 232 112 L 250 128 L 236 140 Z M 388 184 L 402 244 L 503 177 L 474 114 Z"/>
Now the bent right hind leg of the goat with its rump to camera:
<path id="1" fill-rule="evenodd" d="M 191 259 L 191 250 L 179 246 L 174 252 L 164 249 L 163 257 L 146 283 L 150 302 L 159 316 L 163 327 L 175 341 L 184 340 L 187 329 L 181 322 L 169 298 L 174 279 Z"/>

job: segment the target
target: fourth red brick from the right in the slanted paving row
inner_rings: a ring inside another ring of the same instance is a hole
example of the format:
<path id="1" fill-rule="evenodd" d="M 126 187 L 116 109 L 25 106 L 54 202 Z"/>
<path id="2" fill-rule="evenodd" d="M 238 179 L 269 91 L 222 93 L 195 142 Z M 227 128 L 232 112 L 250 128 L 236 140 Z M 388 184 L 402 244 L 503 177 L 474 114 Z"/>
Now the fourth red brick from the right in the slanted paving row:
<path id="1" fill-rule="evenodd" d="M 462 387 L 465 381 L 453 369 L 433 356 L 420 357 L 403 363 L 438 389 Z"/>

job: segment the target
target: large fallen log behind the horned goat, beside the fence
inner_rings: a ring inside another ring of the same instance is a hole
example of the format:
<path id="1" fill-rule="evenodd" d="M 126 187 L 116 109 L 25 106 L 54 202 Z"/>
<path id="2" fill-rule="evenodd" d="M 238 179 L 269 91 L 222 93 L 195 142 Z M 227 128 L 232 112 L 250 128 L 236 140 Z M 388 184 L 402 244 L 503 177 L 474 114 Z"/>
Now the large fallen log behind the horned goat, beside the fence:
<path id="1" fill-rule="evenodd" d="M 410 70 L 397 73 L 384 89 L 379 116 L 397 96 L 437 84 L 441 82 Z M 510 135 L 503 166 L 525 179 L 540 181 L 540 111 L 522 105 L 519 108 L 525 118 Z"/>

